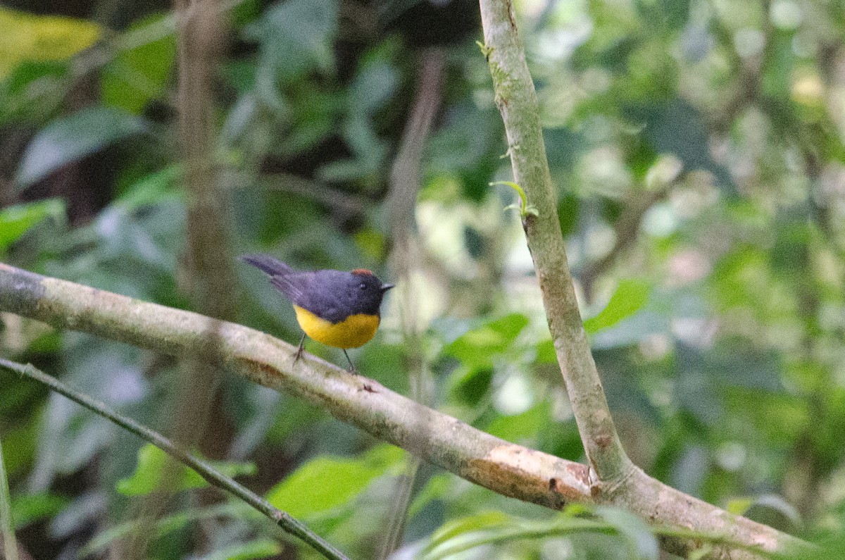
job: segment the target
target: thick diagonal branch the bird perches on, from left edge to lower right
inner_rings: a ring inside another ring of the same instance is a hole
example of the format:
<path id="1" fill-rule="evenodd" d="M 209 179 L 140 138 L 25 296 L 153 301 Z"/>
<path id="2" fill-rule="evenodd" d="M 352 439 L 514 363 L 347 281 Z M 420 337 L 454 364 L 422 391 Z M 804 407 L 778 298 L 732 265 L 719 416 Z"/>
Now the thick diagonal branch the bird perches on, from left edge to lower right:
<path id="1" fill-rule="evenodd" d="M 651 524 L 695 528 L 766 551 L 801 543 L 663 485 L 640 469 L 630 470 L 630 476 L 619 483 L 619 491 L 592 488 L 583 464 L 490 436 L 310 354 L 303 354 L 294 366 L 295 346 L 248 327 L 43 277 L 3 263 L 0 311 L 164 354 L 200 357 L 264 387 L 305 398 L 338 420 L 418 453 L 419 458 L 503 496 L 553 509 L 563 508 L 567 502 L 622 506 Z M 206 352 L 210 323 L 216 324 L 218 333 L 219 347 L 213 353 Z M 421 423 L 429 426 L 422 442 L 418 433 Z M 667 537 L 663 544 L 669 551 L 685 553 L 700 546 L 701 540 Z M 728 550 L 733 549 L 725 546 L 726 554 Z M 731 557 L 737 560 L 755 555 L 733 550 Z"/>

